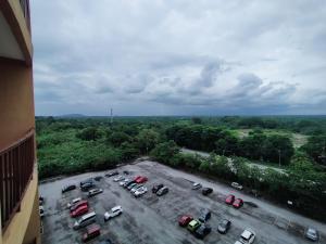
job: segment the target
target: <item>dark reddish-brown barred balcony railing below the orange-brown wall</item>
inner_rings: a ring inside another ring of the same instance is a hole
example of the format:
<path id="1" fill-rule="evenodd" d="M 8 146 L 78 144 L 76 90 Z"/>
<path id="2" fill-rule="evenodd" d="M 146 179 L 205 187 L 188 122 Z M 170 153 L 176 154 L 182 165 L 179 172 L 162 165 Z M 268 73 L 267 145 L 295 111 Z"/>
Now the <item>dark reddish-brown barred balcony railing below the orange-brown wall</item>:
<path id="1" fill-rule="evenodd" d="M 0 152 L 0 204 L 3 230 L 20 210 L 21 201 L 33 177 L 34 163 L 34 131 Z"/>

